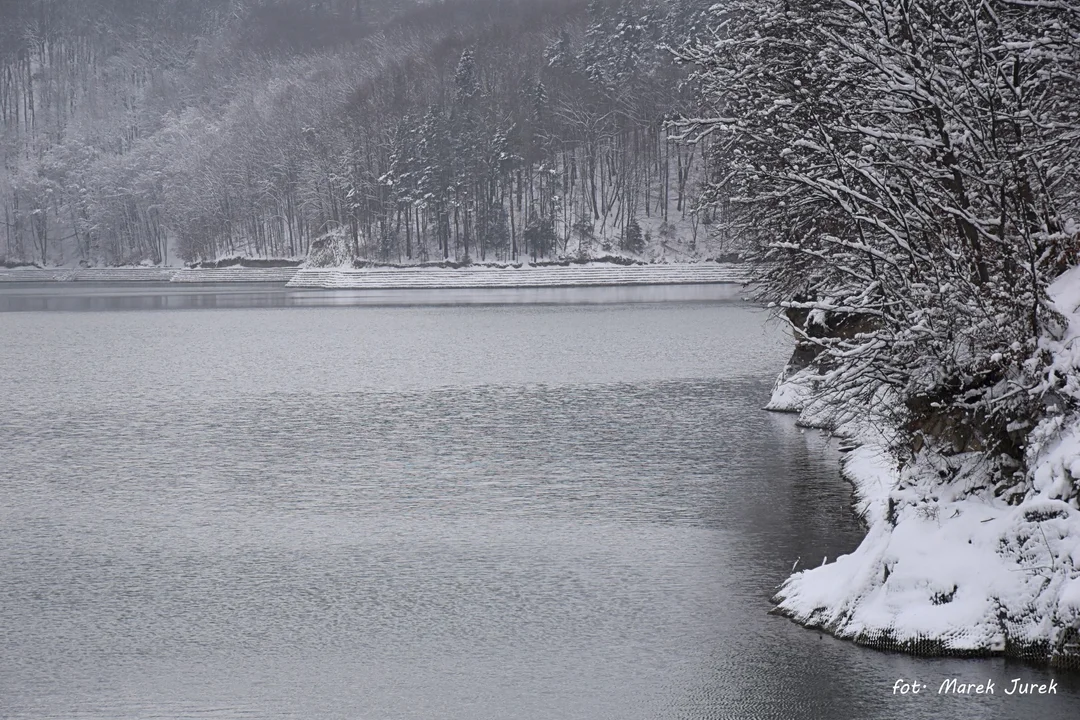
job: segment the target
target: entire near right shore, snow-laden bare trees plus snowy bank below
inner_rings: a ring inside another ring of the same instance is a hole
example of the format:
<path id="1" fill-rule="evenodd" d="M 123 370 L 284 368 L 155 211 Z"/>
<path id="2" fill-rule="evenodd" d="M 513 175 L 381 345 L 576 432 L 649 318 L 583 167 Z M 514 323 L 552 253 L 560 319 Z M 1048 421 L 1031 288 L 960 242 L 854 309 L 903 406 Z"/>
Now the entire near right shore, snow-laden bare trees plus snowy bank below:
<path id="1" fill-rule="evenodd" d="M 686 131 L 800 342 L 774 406 L 878 451 L 848 464 L 870 536 L 785 611 L 1076 664 L 1080 5 L 732 0 L 711 27 Z"/>

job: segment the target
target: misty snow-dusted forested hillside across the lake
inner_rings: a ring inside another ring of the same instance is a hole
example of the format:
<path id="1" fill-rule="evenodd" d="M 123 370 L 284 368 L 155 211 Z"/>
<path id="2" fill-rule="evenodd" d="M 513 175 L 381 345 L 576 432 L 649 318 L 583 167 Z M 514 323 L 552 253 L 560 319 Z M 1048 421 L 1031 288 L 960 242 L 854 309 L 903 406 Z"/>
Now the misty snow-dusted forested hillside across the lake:
<path id="1" fill-rule="evenodd" d="M 0 262 L 707 252 L 701 0 L 3 0 Z"/>

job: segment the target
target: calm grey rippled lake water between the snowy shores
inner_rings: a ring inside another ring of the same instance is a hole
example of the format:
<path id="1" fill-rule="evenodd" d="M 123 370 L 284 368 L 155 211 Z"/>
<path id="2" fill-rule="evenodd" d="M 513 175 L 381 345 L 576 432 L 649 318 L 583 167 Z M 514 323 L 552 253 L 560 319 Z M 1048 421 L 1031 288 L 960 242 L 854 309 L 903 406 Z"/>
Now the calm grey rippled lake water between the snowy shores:
<path id="1" fill-rule="evenodd" d="M 1076 676 L 769 614 L 862 530 L 833 445 L 760 410 L 766 320 L 723 286 L 0 286 L 0 718 L 1078 717 Z"/>

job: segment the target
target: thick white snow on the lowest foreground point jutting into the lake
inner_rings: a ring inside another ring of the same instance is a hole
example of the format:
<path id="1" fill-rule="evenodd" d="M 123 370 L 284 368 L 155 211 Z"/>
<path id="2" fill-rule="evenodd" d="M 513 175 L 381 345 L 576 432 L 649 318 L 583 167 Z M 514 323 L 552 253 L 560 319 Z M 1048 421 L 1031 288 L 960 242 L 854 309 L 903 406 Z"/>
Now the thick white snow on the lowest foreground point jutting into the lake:
<path id="1" fill-rule="evenodd" d="M 935 501 L 923 493 L 955 488 L 900 489 L 904 474 L 876 446 L 852 451 L 843 472 L 869 531 L 850 555 L 793 575 L 779 593 L 786 614 L 868 643 L 961 654 L 1053 643 L 1080 619 L 1080 513 L 1069 505 Z"/>

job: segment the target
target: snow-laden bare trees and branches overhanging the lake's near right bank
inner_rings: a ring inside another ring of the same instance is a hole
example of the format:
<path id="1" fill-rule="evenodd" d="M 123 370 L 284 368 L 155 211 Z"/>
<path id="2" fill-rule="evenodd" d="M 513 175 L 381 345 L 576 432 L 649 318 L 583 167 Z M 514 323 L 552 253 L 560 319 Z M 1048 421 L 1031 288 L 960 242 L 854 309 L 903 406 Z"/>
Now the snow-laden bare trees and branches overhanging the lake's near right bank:
<path id="1" fill-rule="evenodd" d="M 712 200 L 825 385 L 904 437 L 1023 458 L 1049 282 L 1077 259 L 1080 13 L 1026 0 L 760 0 L 685 53 Z M 1052 383 L 1051 383 L 1052 384 Z M 947 432 L 946 430 L 947 429 Z M 941 438 L 940 438 L 941 439 Z"/>

